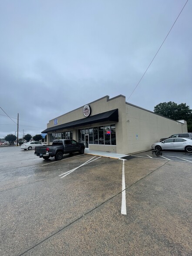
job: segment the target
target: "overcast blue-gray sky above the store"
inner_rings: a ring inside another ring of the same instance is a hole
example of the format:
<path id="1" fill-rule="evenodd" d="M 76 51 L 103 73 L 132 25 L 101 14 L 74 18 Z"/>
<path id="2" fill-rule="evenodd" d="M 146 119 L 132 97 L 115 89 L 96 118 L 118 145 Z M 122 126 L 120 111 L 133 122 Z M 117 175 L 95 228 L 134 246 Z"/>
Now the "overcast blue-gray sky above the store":
<path id="1" fill-rule="evenodd" d="M 185 3 L 0 0 L 0 138 L 15 134 L 17 113 L 19 137 L 36 135 L 106 95 L 150 111 L 168 101 L 192 108 L 192 1 Z"/>

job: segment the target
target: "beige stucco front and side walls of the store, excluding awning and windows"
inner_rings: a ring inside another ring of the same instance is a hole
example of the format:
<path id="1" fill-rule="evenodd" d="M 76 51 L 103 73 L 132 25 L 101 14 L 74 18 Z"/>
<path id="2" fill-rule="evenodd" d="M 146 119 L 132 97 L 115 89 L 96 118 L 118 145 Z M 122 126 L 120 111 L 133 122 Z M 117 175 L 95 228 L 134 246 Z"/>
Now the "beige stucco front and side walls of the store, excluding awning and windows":
<path id="1" fill-rule="evenodd" d="M 129 104 L 123 95 L 111 99 L 109 96 L 105 96 L 91 103 L 85 102 L 85 104 L 90 105 L 91 115 L 118 108 L 118 122 L 104 122 L 68 129 L 73 131 L 74 139 L 77 140 L 78 129 L 115 124 L 117 145 L 89 145 L 92 150 L 130 154 L 151 149 L 151 145 L 159 141 L 160 138 L 168 137 L 174 133 L 187 132 L 186 122 L 182 124 Z M 58 125 L 81 118 L 86 118 L 83 115 L 83 106 L 57 117 Z M 47 128 L 54 127 L 54 119 L 49 121 Z M 47 142 L 49 143 L 49 141 Z"/>

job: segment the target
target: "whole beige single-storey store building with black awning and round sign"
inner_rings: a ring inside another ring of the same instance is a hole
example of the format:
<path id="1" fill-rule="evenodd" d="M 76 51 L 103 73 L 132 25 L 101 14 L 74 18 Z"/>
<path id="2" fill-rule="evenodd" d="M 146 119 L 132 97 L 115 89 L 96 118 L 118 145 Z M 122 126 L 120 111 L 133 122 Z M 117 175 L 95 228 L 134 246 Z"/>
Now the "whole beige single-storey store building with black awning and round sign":
<path id="1" fill-rule="evenodd" d="M 71 138 L 90 150 L 130 154 L 151 149 L 160 138 L 187 132 L 184 120 L 174 121 L 125 101 L 105 96 L 49 121 L 47 145 Z"/>

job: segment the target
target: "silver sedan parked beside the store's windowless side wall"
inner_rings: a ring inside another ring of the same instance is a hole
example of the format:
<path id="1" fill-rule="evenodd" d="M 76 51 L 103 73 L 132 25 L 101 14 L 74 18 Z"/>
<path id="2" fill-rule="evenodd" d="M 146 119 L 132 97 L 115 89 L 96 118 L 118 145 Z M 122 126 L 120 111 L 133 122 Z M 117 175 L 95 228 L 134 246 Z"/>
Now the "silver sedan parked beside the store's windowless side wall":
<path id="1" fill-rule="evenodd" d="M 188 138 L 168 138 L 165 141 L 152 145 L 152 149 L 161 150 L 185 150 L 192 153 L 192 140 Z"/>

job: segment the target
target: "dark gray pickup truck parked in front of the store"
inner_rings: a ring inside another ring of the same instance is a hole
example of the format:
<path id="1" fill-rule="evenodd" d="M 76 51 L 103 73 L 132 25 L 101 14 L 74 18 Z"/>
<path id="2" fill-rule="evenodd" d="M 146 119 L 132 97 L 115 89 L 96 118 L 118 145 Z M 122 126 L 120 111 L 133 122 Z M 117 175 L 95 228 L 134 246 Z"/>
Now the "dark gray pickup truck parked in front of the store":
<path id="1" fill-rule="evenodd" d="M 75 140 L 54 140 L 53 144 L 50 146 L 37 146 L 35 147 L 34 154 L 40 158 L 49 159 L 54 157 L 56 161 L 61 160 L 64 154 L 71 154 L 74 152 L 79 152 L 84 154 L 85 145 L 83 143 L 78 143 Z"/>

